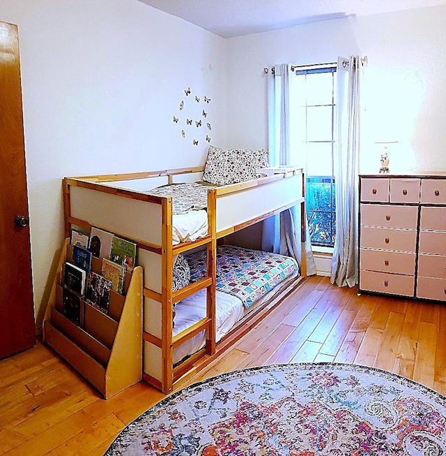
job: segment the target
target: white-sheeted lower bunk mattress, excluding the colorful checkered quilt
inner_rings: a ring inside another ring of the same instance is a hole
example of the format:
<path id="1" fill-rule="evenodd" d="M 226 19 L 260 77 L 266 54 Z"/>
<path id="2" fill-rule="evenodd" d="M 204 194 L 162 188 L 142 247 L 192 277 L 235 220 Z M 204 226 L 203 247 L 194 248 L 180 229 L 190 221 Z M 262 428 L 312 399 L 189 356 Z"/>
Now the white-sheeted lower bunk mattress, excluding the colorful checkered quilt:
<path id="1" fill-rule="evenodd" d="M 272 288 L 265 296 L 260 300 L 254 302 L 252 307 L 245 309 L 243 302 L 236 296 L 223 293 L 222 291 L 215 291 L 215 341 L 218 342 L 224 337 L 236 323 L 243 318 L 246 314 L 251 311 L 255 311 L 256 307 L 261 306 L 264 302 L 270 300 L 272 297 L 277 295 L 280 290 L 288 286 L 291 281 L 294 281 L 299 277 L 299 272 L 295 272 L 291 276 L 287 277 L 280 284 L 277 284 L 275 288 Z M 190 328 L 194 323 L 197 323 L 202 318 L 206 317 L 206 289 L 199 290 L 192 296 L 181 300 L 174 307 L 176 315 L 174 317 L 174 330 L 172 334 L 176 334 L 181 331 Z M 206 344 L 205 331 L 199 332 L 199 334 L 191 337 L 183 344 L 174 348 L 173 360 L 174 364 L 188 355 L 195 353 L 200 348 L 203 348 Z"/>

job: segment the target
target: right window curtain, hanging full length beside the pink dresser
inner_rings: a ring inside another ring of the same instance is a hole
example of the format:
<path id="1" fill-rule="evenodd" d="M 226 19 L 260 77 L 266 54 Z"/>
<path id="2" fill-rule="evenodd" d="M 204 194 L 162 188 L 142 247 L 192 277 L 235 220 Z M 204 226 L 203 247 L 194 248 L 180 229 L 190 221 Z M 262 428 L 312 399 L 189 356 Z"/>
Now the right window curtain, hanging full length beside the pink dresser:
<path id="1" fill-rule="evenodd" d="M 336 237 L 330 281 L 357 284 L 357 209 L 360 152 L 360 85 L 362 59 L 337 63 L 337 149 L 334 154 Z"/>

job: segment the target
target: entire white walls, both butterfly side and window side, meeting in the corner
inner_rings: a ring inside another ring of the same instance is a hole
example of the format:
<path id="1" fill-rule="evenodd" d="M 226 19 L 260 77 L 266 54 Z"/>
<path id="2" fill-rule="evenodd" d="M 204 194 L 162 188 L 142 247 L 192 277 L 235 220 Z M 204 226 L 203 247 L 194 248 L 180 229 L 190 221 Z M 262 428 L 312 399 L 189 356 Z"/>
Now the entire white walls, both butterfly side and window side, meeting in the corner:
<path id="1" fill-rule="evenodd" d="M 19 26 L 37 324 L 63 238 L 61 179 L 197 166 L 207 143 L 173 116 L 208 96 L 212 143 L 267 147 L 263 67 L 367 55 L 362 172 L 398 140 L 394 172 L 445 170 L 446 6 L 346 17 L 224 40 L 137 0 L 1 0 Z M 179 111 L 179 103 L 186 107 Z M 201 108 L 201 107 L 200 107 Z"/>

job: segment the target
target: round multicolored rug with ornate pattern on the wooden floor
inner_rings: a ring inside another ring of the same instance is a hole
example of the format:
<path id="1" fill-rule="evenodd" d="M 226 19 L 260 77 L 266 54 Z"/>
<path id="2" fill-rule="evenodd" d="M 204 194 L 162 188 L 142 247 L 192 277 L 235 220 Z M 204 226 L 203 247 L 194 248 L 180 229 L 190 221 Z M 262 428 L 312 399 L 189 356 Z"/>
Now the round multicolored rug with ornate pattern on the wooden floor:
<path id="1" fill-rule="evenodd" d="M 446 398 L 370 367 L 256 367 L 163 399 L 105 454 L 446 455 Z"/>

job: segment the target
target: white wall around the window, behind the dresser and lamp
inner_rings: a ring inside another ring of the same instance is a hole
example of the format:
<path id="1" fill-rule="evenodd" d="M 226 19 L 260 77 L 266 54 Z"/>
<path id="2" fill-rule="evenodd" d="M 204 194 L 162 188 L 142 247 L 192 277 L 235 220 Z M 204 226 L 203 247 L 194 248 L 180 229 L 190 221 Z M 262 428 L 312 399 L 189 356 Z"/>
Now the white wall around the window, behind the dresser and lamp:
<path id="1" fill-rule="evenodd" d="M 229 145 L 268 146 L 263 67 L 318 64 L 367 55 L 362 85 L 361 172 L 378 172 L 376 141 L 391 172 L 446 170 L 446 6 L 346 17 L 231 38 L 228 45 Z"/>

